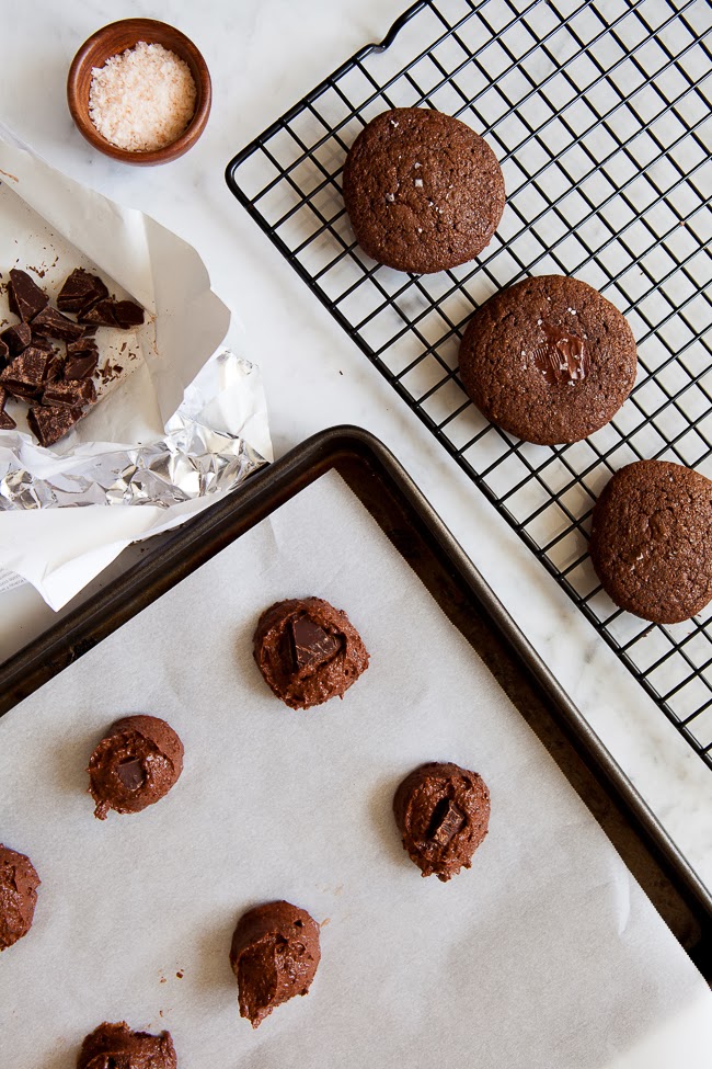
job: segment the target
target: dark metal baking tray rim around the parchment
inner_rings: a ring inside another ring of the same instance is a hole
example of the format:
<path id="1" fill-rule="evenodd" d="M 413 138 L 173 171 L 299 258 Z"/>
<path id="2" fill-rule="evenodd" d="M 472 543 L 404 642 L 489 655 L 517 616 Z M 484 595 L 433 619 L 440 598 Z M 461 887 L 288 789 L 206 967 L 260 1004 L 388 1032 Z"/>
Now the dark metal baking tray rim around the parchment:
<path id="1" fill-rule="evenodd" d="M 462 632 L 712 978 L 712 897 L 386 446 L 333 428 L 186 523 L 0 669 L 0 715 L 326 471 L 336 470 Z"/>

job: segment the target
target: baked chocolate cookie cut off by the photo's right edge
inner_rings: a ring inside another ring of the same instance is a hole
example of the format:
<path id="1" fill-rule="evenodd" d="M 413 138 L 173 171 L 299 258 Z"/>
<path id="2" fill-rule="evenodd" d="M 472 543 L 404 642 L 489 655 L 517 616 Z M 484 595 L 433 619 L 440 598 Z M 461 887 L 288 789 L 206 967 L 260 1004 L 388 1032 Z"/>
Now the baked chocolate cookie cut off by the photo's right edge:
<path id="1" fill-rule="evenodd" d="M 617 471 L 594 508 L 590 558 L 608 595 L 655 624 L 712 599 L 712 481 L 667 460 Z"/>

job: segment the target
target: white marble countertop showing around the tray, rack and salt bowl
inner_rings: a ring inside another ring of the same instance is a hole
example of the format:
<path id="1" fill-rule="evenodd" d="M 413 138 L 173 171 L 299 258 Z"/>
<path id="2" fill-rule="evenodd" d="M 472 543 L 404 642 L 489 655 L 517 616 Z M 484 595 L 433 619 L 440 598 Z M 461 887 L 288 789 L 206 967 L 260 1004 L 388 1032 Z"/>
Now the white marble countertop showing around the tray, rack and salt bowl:
<path id="1" fill-rule="evenodd" d="M 33 0 L 3 20 L 1 117 L 55 167 L 140 207 L 196 246 L 262 367 L 277 455 L 335 423 L 360 424 L 386 442 L 712 886 L 709 771 L 225 184 L 226 163 L 238 149 L 364 43 L 380 39 L 405 7 L 406 0 Z M 99 26 L 129 15 L 179 26 L 213 77 L 206 133 L 163 168 L 127 168 L 97 155 L 66 106 L 66 73 L 78 46 Z M 0 599 L 0 655 L 7 656 L 50 614 L 26 588 Z"/>

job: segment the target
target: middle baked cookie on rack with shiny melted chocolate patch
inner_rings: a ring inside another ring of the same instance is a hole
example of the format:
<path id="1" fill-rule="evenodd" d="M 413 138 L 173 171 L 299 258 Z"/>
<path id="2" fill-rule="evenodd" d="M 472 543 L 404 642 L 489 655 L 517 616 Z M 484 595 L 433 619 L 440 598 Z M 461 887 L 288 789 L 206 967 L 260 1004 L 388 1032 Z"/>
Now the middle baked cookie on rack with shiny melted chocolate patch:
<path id="1" fill-rule="evenodd" d="M 609 300 L 577 278 L 542 275 L 499 291 L 468 322 L 462 385 L 510 434 L 578 442 L 610 422 L 635 382 L 635 339 Z"/>

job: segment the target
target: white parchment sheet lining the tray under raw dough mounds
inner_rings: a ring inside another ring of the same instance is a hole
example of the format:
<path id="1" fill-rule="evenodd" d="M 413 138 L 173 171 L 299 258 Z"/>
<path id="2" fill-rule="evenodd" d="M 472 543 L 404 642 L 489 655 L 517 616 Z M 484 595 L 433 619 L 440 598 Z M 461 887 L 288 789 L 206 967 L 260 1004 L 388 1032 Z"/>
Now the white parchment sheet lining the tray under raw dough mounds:
<path id="1" fill-rule="evenodd" d="M 343 702 L 292 713 L 252 660 L 260 612 L 319 594 L 371 653 Z M 111 721 L 168 719 L 169 796 L 94 820 Z M 391 812 L 426 760 L 479 771 L 490 835 L 423 879 Z M 712 996 L 471 647 L 338 477 L 301 492 L 0 720 L 0 840 L 42 877 L 0 962 L 2 1061 L 72 1069 L 102 1021 L 169 1028 L 181 1066 L 709 1066 Z M 257 1032 L 228 963 L 239 914 L 322 924 L 309 996 Z"/>

